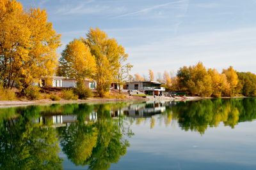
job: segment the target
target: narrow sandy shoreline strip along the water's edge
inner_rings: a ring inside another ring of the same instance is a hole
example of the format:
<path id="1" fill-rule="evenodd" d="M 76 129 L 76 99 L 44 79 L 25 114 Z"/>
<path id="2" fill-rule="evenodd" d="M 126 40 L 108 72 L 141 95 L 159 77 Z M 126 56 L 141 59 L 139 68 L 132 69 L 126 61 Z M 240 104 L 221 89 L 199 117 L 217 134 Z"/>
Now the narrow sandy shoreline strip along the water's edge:
<path id="1" fill-rule="evenodd" d="M 0 108 L 8 107 L 19 107 L 19 106 L 31 106 L 31 105 L 50 105 L 50 104 L 73 104 L 73 103 L 113 103 L 113 102 L 143 102 L 143 101 L 193 101 L 193 100 L 202 100 L 202 99 L 233 99 L 233 98 L 248 98 L 244 96 L 236 97 L 198 97 L 198 96 L 188 96 L 186 99 L 183 98 L 173 98 L 173 97 L 156 97 L 156 98 L 144 98 L 144 97 L 132 97 L 127 99 L 108 99 L 108 98 L 97 98 L 90 97 L 86 100 L 60 100 L 60 101 L 51 101 L 49 99 L 42 99 L 36 101 L 27 101 L 27 100 L 17 100 L 17 101 L 0 101 Z"/>

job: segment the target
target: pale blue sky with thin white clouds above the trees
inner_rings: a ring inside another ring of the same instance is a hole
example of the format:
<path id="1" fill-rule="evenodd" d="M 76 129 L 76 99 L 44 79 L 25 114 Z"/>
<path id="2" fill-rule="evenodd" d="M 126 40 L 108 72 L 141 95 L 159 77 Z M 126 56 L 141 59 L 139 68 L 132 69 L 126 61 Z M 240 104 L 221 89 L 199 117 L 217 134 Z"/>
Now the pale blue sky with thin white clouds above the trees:
<path id="1" fill-rule="evenodd" d="M 256 73 L 256 0 L 22 0 L 42 8 L 62 46 L 99 27 L 129 54 L 131 74 L 168 71 L 201 61 L 218 71 Z"/>

